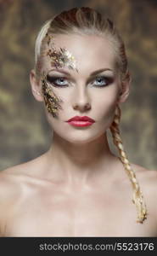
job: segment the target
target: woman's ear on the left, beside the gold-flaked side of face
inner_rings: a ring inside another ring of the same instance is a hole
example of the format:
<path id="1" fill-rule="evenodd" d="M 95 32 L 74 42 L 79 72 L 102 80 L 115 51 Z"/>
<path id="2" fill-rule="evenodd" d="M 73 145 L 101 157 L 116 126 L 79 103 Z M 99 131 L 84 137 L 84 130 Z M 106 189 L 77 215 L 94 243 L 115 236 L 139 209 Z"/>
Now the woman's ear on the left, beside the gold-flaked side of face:
<path id="1" fill-rule="evenodd" d="M 41 83 L 39 79 L 36 79 L 36 73 L 34 69 L 32 69 L 30 73 L 30 83 L 31 83 L 31 91 L 36 101 L 42 102 L 43 99 L 42 99 Z"/>

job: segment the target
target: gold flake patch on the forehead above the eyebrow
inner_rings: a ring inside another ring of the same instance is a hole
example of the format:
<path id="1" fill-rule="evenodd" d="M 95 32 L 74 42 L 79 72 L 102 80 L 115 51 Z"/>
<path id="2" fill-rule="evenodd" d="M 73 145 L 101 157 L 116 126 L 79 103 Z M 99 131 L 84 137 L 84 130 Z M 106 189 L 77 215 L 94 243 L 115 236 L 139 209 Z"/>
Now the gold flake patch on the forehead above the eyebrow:
<path id="1" fill-rule="evenodd" d="M 55 49 L 53 41 L 51 38 L 53 36 L 49 36 L 47 34 L 48 38 L 48 47 L 50 47 L 47 51 L 47 55 L 51 59 L 51 66 L 59 68 L 59 67 L 69 67 L 70 69 L 76 69 L 76 59 L 75 57 L 70 53 L 69 50 L 65 48 L 61 48 L 59 50 Z M 50 44 L 51 43 L 51 44 Z M 76 69 L 78 72 L 78 70 Z"/>

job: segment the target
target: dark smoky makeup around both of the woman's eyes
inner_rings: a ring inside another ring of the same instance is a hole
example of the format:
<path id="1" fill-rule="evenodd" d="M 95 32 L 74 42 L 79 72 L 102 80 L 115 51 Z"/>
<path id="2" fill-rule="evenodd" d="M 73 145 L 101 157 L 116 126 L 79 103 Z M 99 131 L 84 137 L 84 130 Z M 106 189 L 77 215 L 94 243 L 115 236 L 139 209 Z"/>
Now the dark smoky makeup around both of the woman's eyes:
<path id="1" fill-rule="evenodd" d="M 58 79 L 66 79 L 64 77 L 54 77 L 54 76 L 47 76 L 47 81 L 50 83 L 50 84 L 53 84 L 54 87 L 68 87 L 69 85 L 68 84 L 65 84 L 65 85 L 61 85 L 61 84 L 55 84 L 55 81 L 58 80 Z M 106 87 L 108 86 L 109 84 L 112 84 L 114 79 L 111 78 L 111 77 L 107 77 L 107 76 L 99 76 L 99 77 L 96 77 L 94 80 L 96 79 L 104 79 L 106 80 L 104 85 L 93 85 L 94 87 L 98 87 L 98 88 L 103 88 L 103 87 Z"/>

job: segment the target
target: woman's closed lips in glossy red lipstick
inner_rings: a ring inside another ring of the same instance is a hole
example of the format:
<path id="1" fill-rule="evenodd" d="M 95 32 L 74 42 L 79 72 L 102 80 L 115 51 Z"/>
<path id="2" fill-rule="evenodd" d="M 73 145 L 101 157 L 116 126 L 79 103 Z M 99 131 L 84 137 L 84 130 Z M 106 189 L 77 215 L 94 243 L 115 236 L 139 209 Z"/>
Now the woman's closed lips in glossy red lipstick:
<path id="1" fill-rule="evenodd" d="M 83 126 L 93 125 L 93 123 L 95 123 L 95 120 L 89 118 L 88 116 L 75 116 L 67 120 L 66 122 L 68 122 L 70 125 L 73 125 L 73 126 L 83 127 Z"/>

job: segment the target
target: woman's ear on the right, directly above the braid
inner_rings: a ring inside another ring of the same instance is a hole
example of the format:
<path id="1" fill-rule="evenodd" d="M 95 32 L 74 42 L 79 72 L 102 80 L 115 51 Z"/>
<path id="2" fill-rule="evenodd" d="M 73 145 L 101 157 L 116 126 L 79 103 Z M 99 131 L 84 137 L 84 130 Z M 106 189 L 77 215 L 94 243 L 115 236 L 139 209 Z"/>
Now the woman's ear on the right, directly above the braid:
<path id="1" fill-rule="evenodd" d="M 128 74 L 125 80 L 121 81 L 121 93 L 118 98 L 118 103 L 126 102 L 126 99 L 130 93 L 131 82 L 132 78 L 130 74 Z"/>

